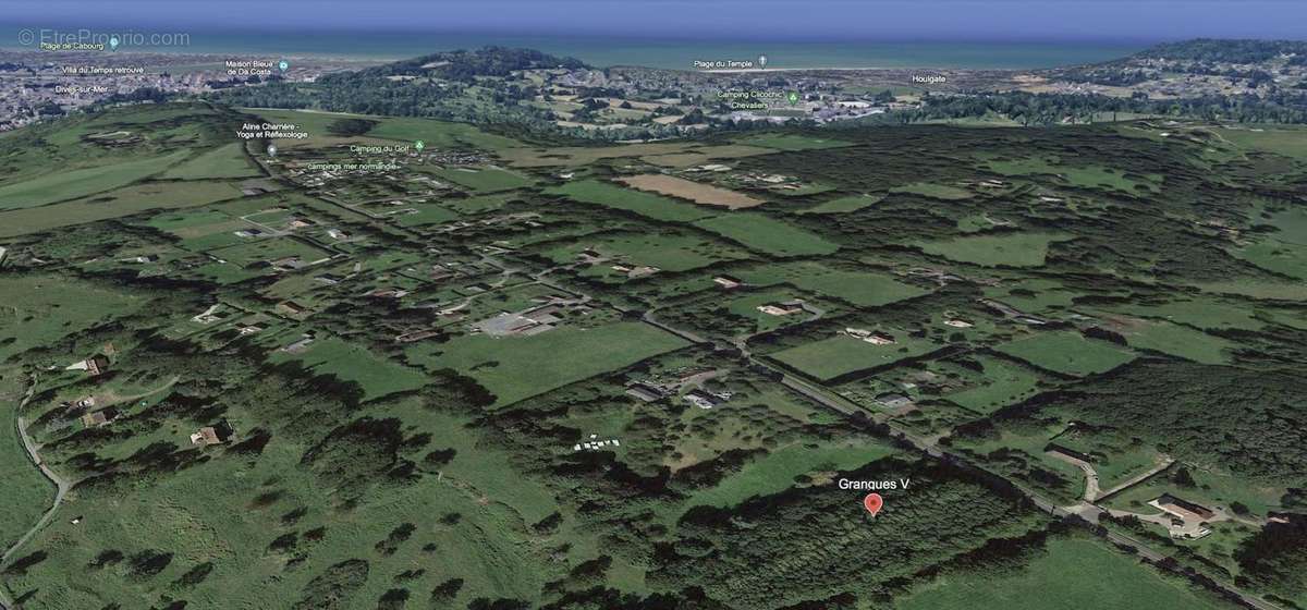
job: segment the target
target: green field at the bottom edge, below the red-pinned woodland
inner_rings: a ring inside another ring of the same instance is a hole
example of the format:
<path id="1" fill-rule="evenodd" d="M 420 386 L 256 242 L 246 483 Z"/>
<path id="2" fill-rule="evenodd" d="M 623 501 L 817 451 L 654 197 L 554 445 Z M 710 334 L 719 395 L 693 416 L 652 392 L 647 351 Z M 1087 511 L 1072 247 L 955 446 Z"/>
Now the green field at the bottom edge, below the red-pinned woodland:
<path id="1" fill-rule="evenodd" d="M 898 610 L 1231 609 L 1192 585 L 1165 579 L 1131 555 L 1098 541 L 1053 538 L 1031 563 L 1014 572 L 944 573 L 897 600 Z"/>

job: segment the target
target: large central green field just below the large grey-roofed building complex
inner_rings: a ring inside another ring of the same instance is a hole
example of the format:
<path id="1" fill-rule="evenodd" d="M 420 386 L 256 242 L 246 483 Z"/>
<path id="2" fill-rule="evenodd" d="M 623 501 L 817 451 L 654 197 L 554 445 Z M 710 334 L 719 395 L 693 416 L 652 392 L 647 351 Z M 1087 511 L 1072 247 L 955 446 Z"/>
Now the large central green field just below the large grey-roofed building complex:
<path id="1" fill-rule="evenodd" d="M 454 368 L 472 376 L 495 394 L 497 405 L 510 405 L 685 345 L 647 324 L 616 323 L 557 328 L 531 337 L 467 336 L 408 353 L 427 368 Z"/>

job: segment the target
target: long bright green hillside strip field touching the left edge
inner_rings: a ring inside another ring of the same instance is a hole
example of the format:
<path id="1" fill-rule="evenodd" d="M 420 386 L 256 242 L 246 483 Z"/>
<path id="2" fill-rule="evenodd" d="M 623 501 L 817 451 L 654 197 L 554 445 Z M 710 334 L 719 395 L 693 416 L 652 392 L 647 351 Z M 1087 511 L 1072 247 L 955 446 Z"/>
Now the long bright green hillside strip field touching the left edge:
<path id="1" fill-rule="evenodd" d="M 85 197 L 131 184 L 158 174 L 191 154 L 178 150 L 162 157 L 82 167 L 46 174 L 39 178 L 0 187 L 0 209 L 12 210 Z"/>

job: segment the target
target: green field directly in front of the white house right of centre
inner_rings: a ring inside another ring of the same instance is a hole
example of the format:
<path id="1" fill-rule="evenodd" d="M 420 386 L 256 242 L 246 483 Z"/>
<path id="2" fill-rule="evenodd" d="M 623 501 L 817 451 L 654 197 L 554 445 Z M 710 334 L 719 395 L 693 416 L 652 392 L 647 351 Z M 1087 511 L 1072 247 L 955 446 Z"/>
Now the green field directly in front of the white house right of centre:
<path id="1" fill-rule="evenodd" d="M 906 334 L 895 338 L 898 342 L 894 345 L 872 345 L 836 334 L 778 351 L 771 354 L 771 358 L 825 381 L 856 371 L 889 366 L 904 358 L 915 358 L 937 347 L 929 341 L 915 340 Z"/>

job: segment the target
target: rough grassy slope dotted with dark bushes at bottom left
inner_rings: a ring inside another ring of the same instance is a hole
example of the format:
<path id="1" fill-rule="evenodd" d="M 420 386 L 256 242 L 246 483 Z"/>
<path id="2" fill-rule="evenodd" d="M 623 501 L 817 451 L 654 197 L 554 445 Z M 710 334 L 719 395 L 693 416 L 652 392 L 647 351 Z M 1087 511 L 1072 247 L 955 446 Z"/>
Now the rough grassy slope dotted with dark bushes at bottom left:
<path id="1" fill-rule="evenodd" d="M 524 515 L 512 507 L 521 498 L 527 500 L 521 504 L 548 509 L 552 498 L 525 495 L 533 486 L 521 481 L 514 481 L 518 491 L 506 496 L 505 486 L 488 485 L 484 475 L 465 478 L 464 473 L 478 468 L 493 465 L 490 473 L 507 468 L 501 453 L 468 440 L 474 438 L 457 425 L 439 435 L 442 445 L 457 443 L 459 453 L 468 452 L 473 460 L 451 464 L 451 475 L 443 481 L 431 477 L 422 485 L 387 489 L 383 498 L 365 499 L 349 512 L 331 506 L 332 489 L 303 469 L 306 447 L 293 443 L 273 443 L 256 465 L 235 472 L 230 461 L 220 458 L 167 477 L 125 494 L 112 511 L 101 509 L 103 496 L 77 494 L 67 513 L 82 515 L 84 521 L 55 520 L 38 537 L 38 545 L 50 550 L 50 560 L 10 583 L 20 590 L 39 590 L 33 606 L 42 609 L 99 607 L 106 601 L 148 607 L 165 592 L 184 593 L 191 605 L 201 607 L 293 607 L 305 586 L 328 566 L 362 559 L 372 570 L 357 585 L 340 590 L 348 606 L 374 607 L 395 586 L 391 576 L 400 567 L 417 564 L 426 577 L 408 586 L 420 596 L 450 577 L 461 577 L 468 600 L 494 594 L 533 598 L 545 579 L 538 570 L 544 551 L 521 545 L 528 537 Z M 233 503 L 239 509 L 233 509 Z M 299 508 L 306 513 L 288 525 L 285 516 Z M 460 517 L 440 521 L 452 513 Z M 393 551 L 382 551 L 379 541 L 404 522 L 414 525 L 410 538 Z M 315 530 L 314 537 L 306 536 Z M 291 551 L 272 545 L 284 533 L 294 533 L 293 546 L 307 555 L 299 566 L 290 564 Z M 133 576 L 133 559 L 154 549 L 167 550 L 159 562 L 162 570 L 149 580 Z M 110 550 L 127 556 L 105 564 L 102 558 Z M 54 564 L 103 567 L 85 568 L 81 580 L 72 583 L 63 572 L 48 570 Z M 205 571 L 197 584 L 178 584 L 197 568 Z M 261 585 L 269 579 L 284 586 Z"/>

